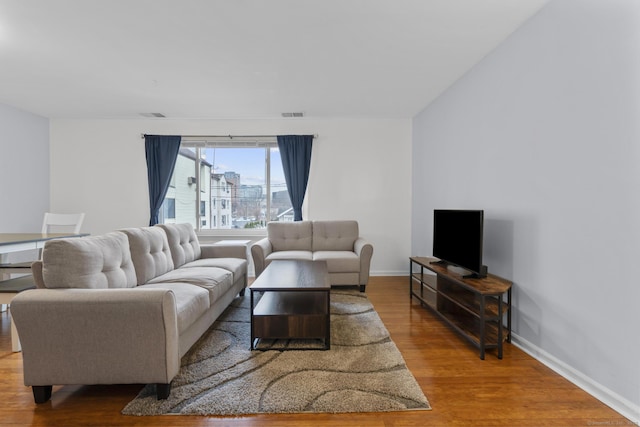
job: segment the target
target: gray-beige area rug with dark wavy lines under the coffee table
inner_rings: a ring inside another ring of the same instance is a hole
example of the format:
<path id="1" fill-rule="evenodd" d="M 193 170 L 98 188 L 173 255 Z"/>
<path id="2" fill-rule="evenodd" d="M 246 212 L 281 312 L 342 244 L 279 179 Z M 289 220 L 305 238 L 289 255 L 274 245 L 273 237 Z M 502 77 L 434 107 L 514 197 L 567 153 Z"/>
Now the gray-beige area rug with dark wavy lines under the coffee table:
<path id="1" fill-rule="evenodd" d="M 182 359 L 167 400 L 147 385 L 125 415 L 242 415 L 431 409 L 402 355 L 357 290 L 331 291 L 331 349 L 250 351 L 249 292 Z M 265 343 L 262 343 L 265 345 Z M 273 348 L 310 348 L 290 340 Z"/>

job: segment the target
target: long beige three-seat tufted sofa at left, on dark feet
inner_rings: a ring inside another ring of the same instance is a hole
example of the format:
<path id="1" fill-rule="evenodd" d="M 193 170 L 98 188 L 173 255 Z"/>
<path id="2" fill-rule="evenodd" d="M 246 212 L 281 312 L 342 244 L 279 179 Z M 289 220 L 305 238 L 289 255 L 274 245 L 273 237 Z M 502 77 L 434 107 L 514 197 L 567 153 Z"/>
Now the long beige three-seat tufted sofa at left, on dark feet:
<path id="1" fill-rule="evenodd" d="M 181 357 L 247 285 L 246 247 L 200 246 L 190 224 L 48 242 L 38 289 L 11 312 L 24 383 L 156 384 L 167 398 Z"/>

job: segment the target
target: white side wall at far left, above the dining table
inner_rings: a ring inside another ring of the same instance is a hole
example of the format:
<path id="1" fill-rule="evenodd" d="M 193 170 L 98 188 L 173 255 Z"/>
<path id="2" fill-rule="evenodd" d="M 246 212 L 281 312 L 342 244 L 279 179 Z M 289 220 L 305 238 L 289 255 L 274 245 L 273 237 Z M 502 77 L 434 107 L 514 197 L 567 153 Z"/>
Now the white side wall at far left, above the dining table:
<path id="1" fill-rule="evenodd" d="M 0 233 L 39 233 L 49 209 L 49 120 L 0 104 L 0 153 Z"/>

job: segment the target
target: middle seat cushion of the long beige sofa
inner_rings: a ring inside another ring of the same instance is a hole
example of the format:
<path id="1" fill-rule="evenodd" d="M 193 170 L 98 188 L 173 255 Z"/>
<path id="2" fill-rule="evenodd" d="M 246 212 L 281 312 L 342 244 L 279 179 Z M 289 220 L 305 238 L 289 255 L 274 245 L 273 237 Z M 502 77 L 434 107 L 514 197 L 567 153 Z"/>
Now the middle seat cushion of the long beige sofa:
<path id="1" fill-rule="evenodd" d="M 149 284 L 181 282 L 195 285 L 209 292 L 209 304 L 218 299 L 233 286 L 233 274 L 218 267 L 178 268 L 158 276 Z"/>

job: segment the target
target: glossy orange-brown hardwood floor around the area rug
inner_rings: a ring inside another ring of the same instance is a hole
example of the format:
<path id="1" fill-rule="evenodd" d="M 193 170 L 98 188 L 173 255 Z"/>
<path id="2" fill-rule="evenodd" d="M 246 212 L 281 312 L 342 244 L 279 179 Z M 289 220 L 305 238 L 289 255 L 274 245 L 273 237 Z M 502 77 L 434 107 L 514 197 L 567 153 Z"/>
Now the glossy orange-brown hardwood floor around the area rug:
<path id="1" fill-rule="evenodd" d="M 36 405 L 22 383 L 0 313 L 0 426 L 602 426 L 634 425 L 516 347 L 480 360 L 474 347 L 415 301 L 406 277 L 373 277 L 367 287 L 391 337 L 431 403 L 431 411 L 359 414 L 132 417 L 120 410 L 140 385 L 56 386 Z M 52 367 L 52 369 L 54 369 Z"/>

